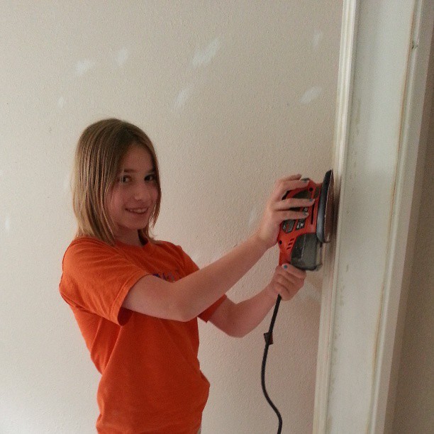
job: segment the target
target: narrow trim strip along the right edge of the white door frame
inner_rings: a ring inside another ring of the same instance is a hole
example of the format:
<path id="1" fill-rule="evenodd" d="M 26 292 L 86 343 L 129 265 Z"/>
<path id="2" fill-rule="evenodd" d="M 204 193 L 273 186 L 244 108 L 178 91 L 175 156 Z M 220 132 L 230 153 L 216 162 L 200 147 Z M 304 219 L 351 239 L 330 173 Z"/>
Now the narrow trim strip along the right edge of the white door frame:
<path id="1" fill-rule="evenodd" d="M 372 433 L 384 432 L 399 301 L 403 291 L 406 291 L 406 288 L 403 287 L 405 262 L 406 260 L 410 263 L 412 261 L 412 255 L 406 257 L 408 250 L 406 247 L 408 247 L 408 231 L 412 224 L 410 216 L 433 33 L 433 15 L 433 6 L 430 1 L 416 1 L 411 50 L 408 53 L 406 96 L 401 120 L 394 206 L 391 212 L 390 248 L 384 278 L 382 317 L 377 341 L 377 362 L 375 364 L 377 371 L 374 377 L 372 419 L 370 422 Z"/>

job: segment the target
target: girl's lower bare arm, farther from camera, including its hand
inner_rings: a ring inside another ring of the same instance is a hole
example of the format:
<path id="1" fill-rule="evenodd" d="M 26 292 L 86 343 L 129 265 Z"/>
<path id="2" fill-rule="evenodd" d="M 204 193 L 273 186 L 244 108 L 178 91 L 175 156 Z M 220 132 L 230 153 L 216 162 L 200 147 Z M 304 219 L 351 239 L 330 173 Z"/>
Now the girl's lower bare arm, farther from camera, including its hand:
<path id="1" fill-rule="evenodd" d="M 290 300 L 303 286 L 305 277 L 306 272 L 291 265 L 286 265 L 286 269 L 277 267 L 265 289 L 238 304 L 226 299 L 209 321 L 226 334 L 242 338 L 262 322 L 276 303 L 277 294 L 282 300 Z"/>

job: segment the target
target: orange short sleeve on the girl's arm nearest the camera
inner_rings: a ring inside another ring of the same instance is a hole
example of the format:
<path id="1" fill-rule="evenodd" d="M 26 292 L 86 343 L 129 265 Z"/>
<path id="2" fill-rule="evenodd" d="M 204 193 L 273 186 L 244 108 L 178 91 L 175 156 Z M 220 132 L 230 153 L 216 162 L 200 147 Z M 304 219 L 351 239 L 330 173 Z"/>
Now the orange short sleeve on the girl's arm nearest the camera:
<path id="1" fill-rule="evenodd" d="M 93 238 L 79 238 L 65 252 L 60 294 L 73 309 L 123 325 L 130 316 L 122 308 L 123 300 L 146 274 L 116 248 Z"/>

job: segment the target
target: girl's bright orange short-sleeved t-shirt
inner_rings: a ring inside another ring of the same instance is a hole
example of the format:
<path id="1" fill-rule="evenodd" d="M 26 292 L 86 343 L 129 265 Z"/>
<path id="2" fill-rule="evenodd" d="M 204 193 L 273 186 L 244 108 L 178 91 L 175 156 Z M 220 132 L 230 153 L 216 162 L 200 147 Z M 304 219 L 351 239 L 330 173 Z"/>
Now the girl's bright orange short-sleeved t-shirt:
<path id="1" fill-rule="evenodd" d="M 60 294 L 72 308 L 101 373 L 99 433 L 194 433 L 209 383 L 197 353 L 197 318 L 187 323 L 122 308 L 131 286 L 153 274 L 174 282 L 198 268 L 181 247 L 114 246 L 74 240 L 63 258 Z M 199 316 L 208 321 L 223 296 Z"/>

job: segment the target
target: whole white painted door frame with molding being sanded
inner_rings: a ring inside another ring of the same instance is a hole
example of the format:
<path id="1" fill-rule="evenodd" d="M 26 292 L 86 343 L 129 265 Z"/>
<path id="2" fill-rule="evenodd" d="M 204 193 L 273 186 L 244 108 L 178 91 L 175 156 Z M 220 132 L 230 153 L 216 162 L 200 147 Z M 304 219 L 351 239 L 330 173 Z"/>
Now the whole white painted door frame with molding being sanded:
<path id="1" fill-rule="evenodd" d="M 430 0 L 344 0 L 313 433 L 384 432 L 432 31 Z"/>

